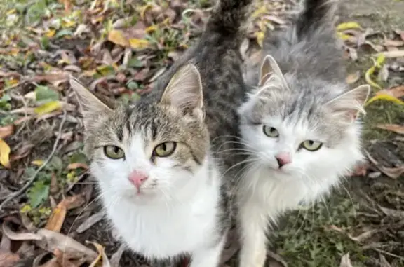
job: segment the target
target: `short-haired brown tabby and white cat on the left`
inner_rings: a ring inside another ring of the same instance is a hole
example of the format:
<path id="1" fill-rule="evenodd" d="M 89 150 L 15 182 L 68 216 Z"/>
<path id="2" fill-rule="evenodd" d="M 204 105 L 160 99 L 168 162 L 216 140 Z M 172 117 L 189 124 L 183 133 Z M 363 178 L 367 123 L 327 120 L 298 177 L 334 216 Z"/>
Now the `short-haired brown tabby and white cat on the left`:
<path id="1" fill-rule="evenodd" d="M 252 0 L 222 0 L 196 46 L 150 95 L 109 107 L 78 81 L 85 150 L 109 219 L 130 249 L 152 261 L 190 255 L 215 267 L 231 221 L 241 55 Z"/>

